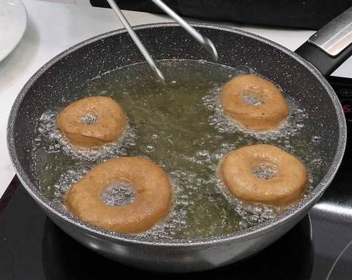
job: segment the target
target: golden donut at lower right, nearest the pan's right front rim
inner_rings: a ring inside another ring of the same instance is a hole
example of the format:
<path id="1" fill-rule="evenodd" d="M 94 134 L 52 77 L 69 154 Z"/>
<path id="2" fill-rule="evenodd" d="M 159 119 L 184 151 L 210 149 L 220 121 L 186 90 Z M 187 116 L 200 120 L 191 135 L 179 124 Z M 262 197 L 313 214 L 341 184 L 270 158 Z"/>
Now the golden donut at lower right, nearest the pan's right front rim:
<path id="1" fill-rule="evenodd" d="M 273 164 L 277 173 L 258 178 L 253 169 Z M 299 199 L 307 185 L 307 169 L 293 155 L 272 145 L 251 145 L 233 150 L 219 163 L 219 176 L 236 197 L 252 202 L 283 205 Z"/>

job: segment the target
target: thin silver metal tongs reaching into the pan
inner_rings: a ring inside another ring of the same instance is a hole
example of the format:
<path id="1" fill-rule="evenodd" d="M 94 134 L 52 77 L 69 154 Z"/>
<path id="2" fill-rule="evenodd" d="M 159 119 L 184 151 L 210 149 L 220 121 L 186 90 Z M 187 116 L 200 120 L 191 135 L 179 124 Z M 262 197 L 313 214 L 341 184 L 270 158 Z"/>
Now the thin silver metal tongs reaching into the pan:
<path id="1" fill-rule="evenodd" d="M 120 8 L 116 4 L 114 0 L 107 0 L 109 5 L 113 8 L 113 10 L 116 12 L 118 17 L 120 18 L 122 24 L 125 26 L 128 34 L 130 34 L 131 38 L 133 39 L 134 43 L 137 45 L 138 49 L 142 53 L 142 55 L 145 57 L 146 61 L 150 65 L 151 69 L 155 72 L 156 76 L 158 77 L 159 80 L 162 82 L 165 81 L 163 73 L 159 70 L 159 68 L 155 65 L 155 62 L 153 58 L 150 56 L 149 52 L 143 45 L 143 43 L 140 41 L 138 38 L 136 32 L 132 29 L 130 23 L 122 14 Z M 161 0 L 152 0 L 158 7 L 160 7 L 166 14 L 168 14 L 171 18 L 173 18 L 175 21 L 177 21 L 192 37 L 196 39 L 211 55 L 212 59 L 214 61 L 218 60 L 218 52 L 215 49 L 215 46 L 212 41 L 210 41 L 209 38 L 201 35 L 198 31 L 196 31 L 192 26 L 190 26 L 186 21 L 184 21 L 177 13 L 175 13 L 173 10 L 170 9 L 169 6 L 167 6 L 163 1 Z"/>

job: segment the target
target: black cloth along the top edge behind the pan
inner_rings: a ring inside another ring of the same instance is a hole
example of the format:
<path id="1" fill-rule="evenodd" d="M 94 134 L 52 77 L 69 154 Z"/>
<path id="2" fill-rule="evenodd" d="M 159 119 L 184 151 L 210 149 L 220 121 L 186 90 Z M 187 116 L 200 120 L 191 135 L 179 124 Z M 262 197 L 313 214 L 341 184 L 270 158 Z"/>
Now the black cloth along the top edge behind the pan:
<path id="1" fill-rule="evenodd" d="M 124 10 L 162 13 L 150 0 L 115 0 Z M 352 6 L 352 0 L 164 0 L 185 17 L 318 30 Z M 106 0 L 92 6 L 109 7 Z"/>

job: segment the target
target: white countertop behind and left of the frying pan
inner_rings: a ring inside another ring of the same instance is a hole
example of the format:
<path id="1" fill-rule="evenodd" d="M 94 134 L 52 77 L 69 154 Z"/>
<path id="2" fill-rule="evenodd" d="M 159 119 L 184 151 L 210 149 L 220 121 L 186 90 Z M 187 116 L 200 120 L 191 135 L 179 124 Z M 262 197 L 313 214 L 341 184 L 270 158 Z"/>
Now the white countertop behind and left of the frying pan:
<path id="1" fill-rule="evenodd" d="M 27 8 L 28 26 L 17 48 L 0 62 L 0 197 L 13 178 L 6 146 L 6 125 L 12 103 L 26 81 L 50 58 L 95 35 L 122 27 L 112 10 L 89 6 L 22 0 Z M 171 21 L 168 17 L 124 11 L 132 25 Z M 284 30 L 233 25 L 256 33 L 294 50 L 313 31 Z M 352 58 L 333 75 L 352 77 Z"/>

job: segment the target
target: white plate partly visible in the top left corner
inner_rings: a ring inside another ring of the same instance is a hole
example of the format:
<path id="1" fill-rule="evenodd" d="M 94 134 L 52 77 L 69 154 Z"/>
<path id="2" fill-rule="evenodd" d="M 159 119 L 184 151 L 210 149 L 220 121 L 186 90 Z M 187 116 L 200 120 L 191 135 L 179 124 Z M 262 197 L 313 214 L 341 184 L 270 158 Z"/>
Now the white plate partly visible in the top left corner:
<path id="1" fill-rule="evenodd" d="M 0 0 L 0 61 L 21 41 L 27 26 L 26 8 L 20 0 Z"/>

